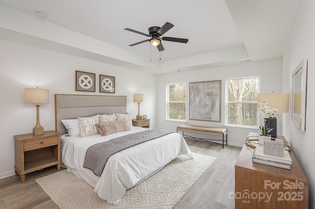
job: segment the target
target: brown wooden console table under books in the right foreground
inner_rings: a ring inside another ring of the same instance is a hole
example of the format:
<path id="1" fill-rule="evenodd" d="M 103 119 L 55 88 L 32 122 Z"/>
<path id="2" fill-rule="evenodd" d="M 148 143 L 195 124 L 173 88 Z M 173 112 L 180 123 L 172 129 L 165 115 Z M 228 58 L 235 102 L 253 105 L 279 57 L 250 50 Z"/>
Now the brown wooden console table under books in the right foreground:
<path id="1" fill-rule="evenodd" d="M 309 181 L 290 151 L 291 170 L 252 162 L 244 145 L 235 163 L 235 209 L 308 209 Z"/>

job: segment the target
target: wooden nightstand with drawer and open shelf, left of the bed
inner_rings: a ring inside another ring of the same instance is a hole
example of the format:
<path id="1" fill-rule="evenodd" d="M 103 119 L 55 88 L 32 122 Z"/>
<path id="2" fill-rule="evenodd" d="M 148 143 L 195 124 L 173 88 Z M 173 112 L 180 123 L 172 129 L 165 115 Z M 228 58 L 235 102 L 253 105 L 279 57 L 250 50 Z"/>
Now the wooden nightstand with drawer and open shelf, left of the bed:
<path id="1" fill-rule="evenodd" d="M 60 171 L 60 134 L 57 131 L 44 131 L 44 134 L 22 134 L 14 136 L 15 175 L 20 175 L 22 183 L 25 174 L 57 165 Z"/>

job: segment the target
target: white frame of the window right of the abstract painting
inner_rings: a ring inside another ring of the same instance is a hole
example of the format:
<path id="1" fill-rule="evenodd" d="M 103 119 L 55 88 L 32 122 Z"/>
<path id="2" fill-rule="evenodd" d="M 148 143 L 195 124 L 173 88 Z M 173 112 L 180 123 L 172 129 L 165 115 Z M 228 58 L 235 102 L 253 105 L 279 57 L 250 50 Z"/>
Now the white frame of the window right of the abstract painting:
<path id="1" fill-rule="evenodd" d="M 257 115 L 257 122 L 255 126 L 253 125 L 240 125 L 240 124 L 229 124 L 228 123 L 228 81 L 229 80 L 237 80 L 237 79 L 251 79 L 251 78 L 257 78 L 258 79 L 258 87 L 257 87 L 257 94 L 260 92 L 260 76 L 242 76 L 242 77 L 233 77 L 233 78 L 226 78 L 225 79 L 225 110 L 224 110 L 224 115 L 225 115 L 225 122 L 224 125 L 226 126 L 233 126 L 233 127 L 241 127 L 241 128 L 259 128 L 259 117 Z M 255 103 L 257 101 L 251 101 L 251 102 L 235 102 L 235 103 Z"/>

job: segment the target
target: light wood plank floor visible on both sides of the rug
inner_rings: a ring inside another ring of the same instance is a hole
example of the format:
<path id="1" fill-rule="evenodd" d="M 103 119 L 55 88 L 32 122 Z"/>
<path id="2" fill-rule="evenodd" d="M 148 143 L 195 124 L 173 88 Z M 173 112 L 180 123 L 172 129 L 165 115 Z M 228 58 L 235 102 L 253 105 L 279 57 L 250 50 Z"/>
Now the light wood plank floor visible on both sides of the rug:
<path id="1" fill-rule="evenodd" d="M 234 164 L 240 147 L 186 139 L 192 152 L 217 157 L 204 175 L 189 189 L 174 209 L 234 209 L 228 194 L 234 191 Z M 59 209 L 35 179 L 57 172 L 56 166 L 26 175 L 0 179 L 0 209 Z"/>

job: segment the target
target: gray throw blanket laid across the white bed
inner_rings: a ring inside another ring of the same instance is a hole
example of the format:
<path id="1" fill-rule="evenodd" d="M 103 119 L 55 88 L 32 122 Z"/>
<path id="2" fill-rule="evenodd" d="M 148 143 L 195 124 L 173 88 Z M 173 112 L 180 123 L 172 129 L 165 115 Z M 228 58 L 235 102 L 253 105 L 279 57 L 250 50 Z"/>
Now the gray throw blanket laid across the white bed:
<path id="1" fill-rule="evenodd" d="M 95 144 L 87 149 L 83 167 L 90 169 L 96 176 L 100 177 L 111 155 L 170 133 L 175 132 L 161 129 L 148 129 Z"/>

